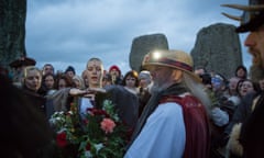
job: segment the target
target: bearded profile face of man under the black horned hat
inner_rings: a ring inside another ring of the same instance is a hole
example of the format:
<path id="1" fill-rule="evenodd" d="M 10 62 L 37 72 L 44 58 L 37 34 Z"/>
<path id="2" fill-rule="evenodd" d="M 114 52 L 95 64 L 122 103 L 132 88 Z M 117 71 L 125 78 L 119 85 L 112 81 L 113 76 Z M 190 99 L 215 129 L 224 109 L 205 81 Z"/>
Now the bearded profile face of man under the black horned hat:
<path id="1" fill-rule="evenodd" d="M 253 65 L 264 68 L 264 26 L 250 32 L 244 45 L 249 48 L 249 53 L 253 57 Z"/>

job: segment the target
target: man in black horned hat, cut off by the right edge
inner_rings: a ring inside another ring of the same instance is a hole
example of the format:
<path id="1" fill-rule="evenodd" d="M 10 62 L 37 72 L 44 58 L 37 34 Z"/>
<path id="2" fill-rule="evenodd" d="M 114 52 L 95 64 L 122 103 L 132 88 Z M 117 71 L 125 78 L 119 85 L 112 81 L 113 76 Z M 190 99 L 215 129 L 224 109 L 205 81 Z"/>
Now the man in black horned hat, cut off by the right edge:
<path id="1" fill-rule="evenodd" d="M 264 1 L 263 0 L 249 0 L 249 5 L 240 4 L 223 4 L 238 10 L 242 10 L 242 16 L 233 16 L 223 13 L 228 18 L 241 21 L 241 25 L 237 27 L 238 33 L 249 32 L 244 41 L 244 45 L 249 48 L 252 55 L 251 78 L 255 81 L 264 78 Z M 243 106 L 240 105 L 237 111 L 242 111 Z M 261 158 L 264 153 L 264 94 L 255 98 L 249 108 L 250 115 L 246 115 L 242 122 L 241 129 L 233 128 L 232 136 L 238 132 L 239 142 L 235 149 L 239 149 L 241 157 Z M 238 113 L 238 112 L 235 112 Z M 232 145 L 232 142 L 229 142 Z M 231 148 L 231 147 L 230 147 Z"/>

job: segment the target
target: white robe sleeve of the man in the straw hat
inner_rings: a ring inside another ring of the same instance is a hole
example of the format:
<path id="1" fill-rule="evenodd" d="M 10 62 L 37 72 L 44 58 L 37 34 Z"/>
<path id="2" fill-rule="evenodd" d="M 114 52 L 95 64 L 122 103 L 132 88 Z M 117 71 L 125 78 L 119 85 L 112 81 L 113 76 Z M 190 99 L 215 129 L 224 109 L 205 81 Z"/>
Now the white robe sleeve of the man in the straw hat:
<path id="1" fill-rule="evenodd" d="M 163 103 L 150 115 L 124 158 L 182 158 L 185 143 L 182 106 Z"/>

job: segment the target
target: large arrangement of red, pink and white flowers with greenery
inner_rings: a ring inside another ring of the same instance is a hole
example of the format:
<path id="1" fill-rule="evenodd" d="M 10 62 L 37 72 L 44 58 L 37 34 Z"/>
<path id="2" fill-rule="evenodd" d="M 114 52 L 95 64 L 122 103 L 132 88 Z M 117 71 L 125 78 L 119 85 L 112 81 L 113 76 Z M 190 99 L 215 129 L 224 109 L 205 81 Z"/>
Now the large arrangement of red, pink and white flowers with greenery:
<path id="1" fill-rule="evenodd" d="M 128 128 L 119 119 L 110 100 L 102 109 L 87 109 L 80 117 L 77 101 L 68 112 L 55 112 L 51 119 L 55 131 L 57 157 L 62 158 L 121 158 L 128 143 Z"/>

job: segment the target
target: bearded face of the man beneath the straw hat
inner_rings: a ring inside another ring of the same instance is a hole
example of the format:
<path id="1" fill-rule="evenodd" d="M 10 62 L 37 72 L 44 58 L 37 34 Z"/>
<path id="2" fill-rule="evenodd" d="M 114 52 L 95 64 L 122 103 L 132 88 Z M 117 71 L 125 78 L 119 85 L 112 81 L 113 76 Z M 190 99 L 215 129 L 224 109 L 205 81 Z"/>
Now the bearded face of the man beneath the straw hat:
<path id="1" fill-rule="evenodd" d="M 153 80 L 153 90 L 163 90 L 166 88 L 168 81 L 172 80 L 173 70 L 163 66 L 151 66 L 150 72 Z"/>

